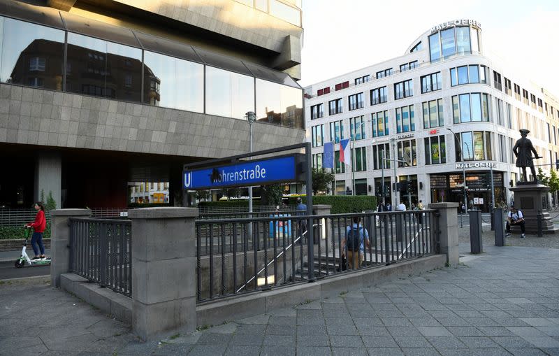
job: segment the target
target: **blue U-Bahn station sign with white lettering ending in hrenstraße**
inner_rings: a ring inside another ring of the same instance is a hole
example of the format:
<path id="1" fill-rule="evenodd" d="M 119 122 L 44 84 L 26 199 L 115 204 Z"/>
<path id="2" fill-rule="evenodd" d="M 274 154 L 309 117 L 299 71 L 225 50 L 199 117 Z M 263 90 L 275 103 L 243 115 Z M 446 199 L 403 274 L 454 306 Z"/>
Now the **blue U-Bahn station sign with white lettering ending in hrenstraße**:
<path id="1" fill-rule="evenodd" d="M 287 183 L 298 180 L 298 161 L 298 155 L 295 154 L 212 168 L 185 169 L 182 187 L 185 190 L 202 190 Z"/>

